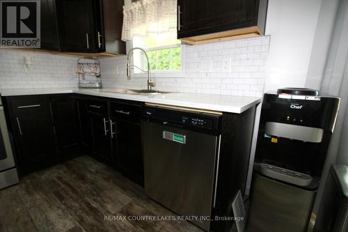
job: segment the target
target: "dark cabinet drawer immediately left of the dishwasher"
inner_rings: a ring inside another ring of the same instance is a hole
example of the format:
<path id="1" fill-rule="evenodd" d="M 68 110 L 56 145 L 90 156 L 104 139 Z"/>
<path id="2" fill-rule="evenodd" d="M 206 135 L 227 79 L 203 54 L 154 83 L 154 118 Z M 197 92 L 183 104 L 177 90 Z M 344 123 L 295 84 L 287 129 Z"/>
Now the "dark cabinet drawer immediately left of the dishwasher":
<path id="1" fill-rule="evenodd" d="M 140 123 L 141 105 L 111 102 L 111 116 Z"/>

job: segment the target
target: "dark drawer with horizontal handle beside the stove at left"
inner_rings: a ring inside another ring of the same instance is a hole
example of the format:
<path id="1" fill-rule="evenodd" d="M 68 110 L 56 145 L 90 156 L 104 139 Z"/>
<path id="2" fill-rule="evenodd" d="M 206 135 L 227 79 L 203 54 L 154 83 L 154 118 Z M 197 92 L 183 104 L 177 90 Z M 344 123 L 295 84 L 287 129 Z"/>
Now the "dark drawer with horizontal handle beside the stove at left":
<path id="1" fill-rule="evenodd" d="M 11 99 L 14 116 L 47 110 L 47 101 L 42 96 Z"/>

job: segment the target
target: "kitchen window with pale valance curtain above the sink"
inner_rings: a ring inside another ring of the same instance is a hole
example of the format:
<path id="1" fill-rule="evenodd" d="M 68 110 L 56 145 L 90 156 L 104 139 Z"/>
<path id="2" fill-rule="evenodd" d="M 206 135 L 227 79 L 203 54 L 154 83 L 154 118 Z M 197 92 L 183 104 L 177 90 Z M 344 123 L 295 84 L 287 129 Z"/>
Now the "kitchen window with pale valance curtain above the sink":
<path id="1" fill-rule="evenodd" d="M 152 73 L 168 76 L 183 72 L 184 46 L 177 40 L 175 0 L 139 0 L 123 10 L 122 40 L 127 47 L 141 47 L 148 53 Z M 134 50 L 133 63 L 147 69 L 144 54 Z M 134 73 L 142 73 L 134 68 Z"/>

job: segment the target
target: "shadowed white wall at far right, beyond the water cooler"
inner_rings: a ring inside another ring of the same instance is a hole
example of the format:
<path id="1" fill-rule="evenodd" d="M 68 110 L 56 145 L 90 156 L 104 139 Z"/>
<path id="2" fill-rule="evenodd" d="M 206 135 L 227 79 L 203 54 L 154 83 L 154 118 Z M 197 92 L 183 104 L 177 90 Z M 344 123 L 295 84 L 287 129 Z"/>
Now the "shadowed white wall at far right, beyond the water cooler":
<path id="1" fill-rule="evenodd" d="M 345 112 L 348 102 L 348 0 L 340 0 L 338 11 L 335 16 L 333 36 L 331 38 L 324 77 L 322 79 L 321 92 L 329 95 L 337 95 L 341 98 L 341 102 L 335 131 L 331 137 L 324 169 L 322 171 L 322 183 L 326 181 L 326 176 L 329 173 L 331 164 L 338 162 L 339 152 L 347 152 L 347 150 L 345 150 L 347 148 L 345 147 L 345 144 L 347 144 L 347 138 L 345 138 L 347 131 L 345 131 L 344 126 L 347 120 Z M 319 206 L 323 190 L 324 185 L 321 185 L 318 190 L 314 211 L 316 211 Z"/>

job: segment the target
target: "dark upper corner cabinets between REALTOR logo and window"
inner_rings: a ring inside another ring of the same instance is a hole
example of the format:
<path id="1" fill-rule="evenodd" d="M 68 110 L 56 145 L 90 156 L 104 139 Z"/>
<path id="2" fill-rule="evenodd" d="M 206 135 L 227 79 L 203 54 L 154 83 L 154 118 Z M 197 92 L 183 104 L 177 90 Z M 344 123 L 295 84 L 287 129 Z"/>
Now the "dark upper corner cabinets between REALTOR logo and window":
<path id="1" fill-rule="evenodd" d="M 124 0 L 41 0 L 41 48 L 90 54 L 125 54 Z"/>

